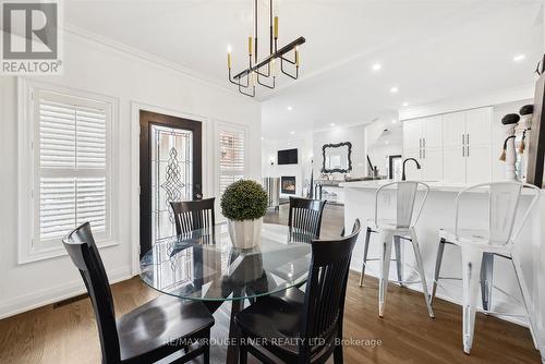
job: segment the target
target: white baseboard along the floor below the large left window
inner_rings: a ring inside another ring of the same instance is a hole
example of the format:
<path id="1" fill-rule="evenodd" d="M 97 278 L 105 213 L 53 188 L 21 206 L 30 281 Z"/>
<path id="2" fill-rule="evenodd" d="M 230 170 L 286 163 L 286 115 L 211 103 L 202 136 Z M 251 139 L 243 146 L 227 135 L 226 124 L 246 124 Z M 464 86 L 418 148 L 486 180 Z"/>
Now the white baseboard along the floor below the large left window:
<path id="1" fill-rule="evenodd" d="M 132 278 L 131 266 L 108 272 L 110 283 Z M 85 293 L 81 279 L 0 301 L 0 319 Z"/>

